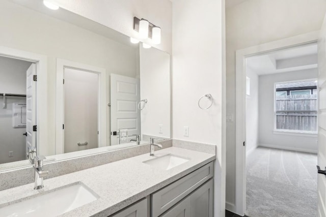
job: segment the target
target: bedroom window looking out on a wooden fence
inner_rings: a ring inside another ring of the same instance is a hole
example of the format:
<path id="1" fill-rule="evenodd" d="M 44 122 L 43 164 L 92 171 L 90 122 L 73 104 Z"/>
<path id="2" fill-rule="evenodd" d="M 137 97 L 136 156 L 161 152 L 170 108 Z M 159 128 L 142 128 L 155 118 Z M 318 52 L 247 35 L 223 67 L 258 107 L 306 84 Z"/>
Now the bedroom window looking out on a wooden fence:
<path id="1" fill-rule="evenodd" d="M 275 130 L 317 132 L 317 81 L 275 84 Z"/>

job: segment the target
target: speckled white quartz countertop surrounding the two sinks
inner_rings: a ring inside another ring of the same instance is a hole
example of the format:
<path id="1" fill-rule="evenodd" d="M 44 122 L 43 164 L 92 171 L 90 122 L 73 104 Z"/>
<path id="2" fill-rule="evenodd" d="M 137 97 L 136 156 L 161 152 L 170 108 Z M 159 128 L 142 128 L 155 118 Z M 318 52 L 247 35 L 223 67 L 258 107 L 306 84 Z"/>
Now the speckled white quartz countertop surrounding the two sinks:
<path id="1" fill-rule="evenodd" d="M 143 161 L 169 153 L 190 160 L 170 170 L 161 170 L 143 163 Z M 37 196 L 40 192 L 50 191 L 75 182 L 83 182 L 100 198 L 82 207 L 66 212 L 61 216 L 106 217 L 165 187 L 182 176 L 193 172 L 214 159 L 214 154 L 170 147 L 155 151 L 154 157 L 150 157 L 149 153 L 146 153 L 98 167 L 46 179 L 44 180 L 44 189 L 39 191 L 33 190 L 34 183 L 0 191 L 0 204 L 2 204 L 0 207 L 3 207 L 5 204 L 7 205 L 11 201 Z M 46 170 L 46 165 L 44 169 Z"/>

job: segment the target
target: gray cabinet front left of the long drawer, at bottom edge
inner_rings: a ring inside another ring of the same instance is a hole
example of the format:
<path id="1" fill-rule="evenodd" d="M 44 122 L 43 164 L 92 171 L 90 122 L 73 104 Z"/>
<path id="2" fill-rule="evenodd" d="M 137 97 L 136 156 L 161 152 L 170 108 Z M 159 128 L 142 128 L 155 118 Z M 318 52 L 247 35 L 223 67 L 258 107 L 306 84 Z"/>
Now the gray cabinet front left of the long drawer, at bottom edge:
<path id="1" fill-rule="evenodd" d="M 146 217 L 147 216 L 147 198 L 144 198 L 127 208 L 110 215 L 110 217 Z"/>

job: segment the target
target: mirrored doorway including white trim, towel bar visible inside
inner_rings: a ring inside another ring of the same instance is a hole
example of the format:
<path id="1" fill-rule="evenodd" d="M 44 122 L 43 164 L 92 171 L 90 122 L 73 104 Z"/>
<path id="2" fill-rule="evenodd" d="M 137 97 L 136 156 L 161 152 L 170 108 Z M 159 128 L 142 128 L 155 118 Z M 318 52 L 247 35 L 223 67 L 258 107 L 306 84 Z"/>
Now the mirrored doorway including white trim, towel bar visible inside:
<path id="1" fill-rule="evenodd" d="M 106 146 L 105 69 L 57 59 L 56 154 Z"/>

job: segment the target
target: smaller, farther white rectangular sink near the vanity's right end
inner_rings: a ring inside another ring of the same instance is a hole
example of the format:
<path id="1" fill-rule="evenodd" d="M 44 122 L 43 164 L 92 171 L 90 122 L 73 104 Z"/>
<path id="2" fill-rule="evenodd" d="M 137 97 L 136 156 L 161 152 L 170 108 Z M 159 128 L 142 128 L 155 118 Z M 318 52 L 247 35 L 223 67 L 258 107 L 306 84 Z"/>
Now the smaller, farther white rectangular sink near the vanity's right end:
<path id="1" fill-rule="evenodd" d="M 176 156 L 174 154 L 166 154 L 165 156 L 160 156 L 154 159 L 144 161 L 143 163 L 151 165 L 153 167 L 160 168 L 162 170 L 169 170 L 173 167 L 179 166 L 190 159 Z"/>

